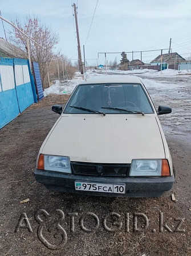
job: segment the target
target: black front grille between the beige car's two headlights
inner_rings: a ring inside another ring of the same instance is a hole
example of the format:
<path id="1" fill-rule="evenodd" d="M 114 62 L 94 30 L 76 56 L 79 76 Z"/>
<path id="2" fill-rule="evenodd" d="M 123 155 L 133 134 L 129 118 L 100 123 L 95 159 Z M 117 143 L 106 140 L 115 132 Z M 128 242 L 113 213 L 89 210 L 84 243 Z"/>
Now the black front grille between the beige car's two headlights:
<path id="1" fill-rule="evenodd" d="M 99 164 L 71 162 L 71 170 L 76 175 L 88 176 L 129 176 L 131 164 Z"/>

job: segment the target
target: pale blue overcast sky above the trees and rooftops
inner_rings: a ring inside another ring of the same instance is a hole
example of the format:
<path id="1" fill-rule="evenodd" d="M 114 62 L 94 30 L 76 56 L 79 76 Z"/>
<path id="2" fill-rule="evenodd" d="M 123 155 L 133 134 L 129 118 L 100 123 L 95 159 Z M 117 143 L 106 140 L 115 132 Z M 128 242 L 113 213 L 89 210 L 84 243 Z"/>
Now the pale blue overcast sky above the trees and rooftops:
<path id="1" fill-rule="evenodd" d="M 189 57 L 191 53 L 191 0 L 0 0 L 2 16 L 11 19 L 17 14 L 23 19 L 26 14 L 38 14 L 42 22 L 59 32 L 56 50 L 69 58 L 78 58 L 76 32 L 72 3 L 78 3 L 80 44 L 86 49 L 88 64 L 96 64 L 98 52 L 131 52 L 169 48 L 172 37 L 172 51 Z M 97 9 L 87 39 L 95 6 Z M 5 24 L 8 31 L 10 25 Z M 2 23 L 0 37 L 5 38 Z M 86 42 L 87 39 L 87 42 Z M 168 50 L 166 51 L 166 53 Z M 186 53 L 186 54 L 185 54 Z M 151 61 L 160 52 L 143 53 L 143 61 Z M 108 54 L 113 61 L 120 54 Z M 132 59 L 132 54 L 128 54 Z M 140 58 L 139 53 L 134 59 Z M 99 64 L 104 64 L 100 54 Z"/>

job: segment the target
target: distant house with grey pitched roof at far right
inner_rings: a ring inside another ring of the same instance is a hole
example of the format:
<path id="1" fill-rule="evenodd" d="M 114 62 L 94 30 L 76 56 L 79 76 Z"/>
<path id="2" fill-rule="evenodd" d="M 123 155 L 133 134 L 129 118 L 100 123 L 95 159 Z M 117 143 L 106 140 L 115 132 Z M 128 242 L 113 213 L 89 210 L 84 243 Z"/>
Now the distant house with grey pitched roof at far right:
<path id="1" fill-rule="evenodd" d="M 166 53 L 162 54 L 162 65 L 165 65 L 166 68 L 168 65 L 180 64 L 182 62 L 186 62 L 185 58 L 182 58 L 178 53 Z M 161 55 L 157 56 L 154 60 L 151 61 L 151 65 L 161 65 Z"/>

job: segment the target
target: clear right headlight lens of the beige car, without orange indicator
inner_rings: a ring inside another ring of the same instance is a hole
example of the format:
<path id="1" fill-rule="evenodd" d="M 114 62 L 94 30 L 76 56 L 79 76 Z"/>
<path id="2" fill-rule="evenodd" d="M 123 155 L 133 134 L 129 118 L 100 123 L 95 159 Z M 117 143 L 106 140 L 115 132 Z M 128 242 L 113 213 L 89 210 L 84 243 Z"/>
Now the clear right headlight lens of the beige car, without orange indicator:
<path id="1" fill-rule="evenodd" d="M 132 160 L 129 176 L 161 176 L 162 160 Z"/>

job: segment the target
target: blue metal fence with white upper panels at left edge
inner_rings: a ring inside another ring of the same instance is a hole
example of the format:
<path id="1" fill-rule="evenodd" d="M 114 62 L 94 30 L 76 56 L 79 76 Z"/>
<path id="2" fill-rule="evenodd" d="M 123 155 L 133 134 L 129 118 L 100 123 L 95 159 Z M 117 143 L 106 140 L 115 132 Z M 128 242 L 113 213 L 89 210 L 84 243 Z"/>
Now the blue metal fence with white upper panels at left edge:
<path id="1" fill-rule="evenodd" d="M 36 102 L 27 60 L 0 58 L 0 128 Z"/>

